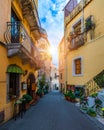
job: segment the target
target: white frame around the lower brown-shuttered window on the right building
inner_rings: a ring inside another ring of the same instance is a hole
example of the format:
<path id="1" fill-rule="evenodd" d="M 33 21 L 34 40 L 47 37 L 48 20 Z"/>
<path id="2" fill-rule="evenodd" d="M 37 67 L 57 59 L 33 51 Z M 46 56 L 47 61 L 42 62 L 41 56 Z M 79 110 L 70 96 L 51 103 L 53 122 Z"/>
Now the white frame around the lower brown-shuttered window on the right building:
<path id="1" fill-rule="evenodd" d="M 81 74 L 75 73 L 75 60 L 77 60 L 77 59 L 81 59 Z M 82 56 L 75 57 L 72 60 L 72 75 L 73 76 L 83 76 L 83 57 Z"/>

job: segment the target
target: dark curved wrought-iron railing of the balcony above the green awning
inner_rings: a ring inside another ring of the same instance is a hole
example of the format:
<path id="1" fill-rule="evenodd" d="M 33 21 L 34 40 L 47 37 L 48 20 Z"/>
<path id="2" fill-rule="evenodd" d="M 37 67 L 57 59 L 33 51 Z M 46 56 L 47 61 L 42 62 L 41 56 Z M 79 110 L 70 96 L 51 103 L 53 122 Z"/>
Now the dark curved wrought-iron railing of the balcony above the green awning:
<path id="1" fill-rule="evenodd" d="M 21 22 L 7 22 L 7 30 L 4 37 L 8 50 L 17 49 L 17 45 L 23 47 L 30 54 L 30 57 L 33 57 L 37 66 L 40 65 L 41 56 L 39 49 L 36 48 Z"/>

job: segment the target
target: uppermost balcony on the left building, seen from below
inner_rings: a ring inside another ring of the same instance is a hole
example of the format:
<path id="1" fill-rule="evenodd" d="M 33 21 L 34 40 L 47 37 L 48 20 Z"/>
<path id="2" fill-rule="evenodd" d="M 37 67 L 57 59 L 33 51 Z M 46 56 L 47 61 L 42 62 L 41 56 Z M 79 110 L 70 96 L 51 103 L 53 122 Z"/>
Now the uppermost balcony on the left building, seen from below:
<path id="1" fill-rule="evenodd" d="M 30 31 L 35 39 L 40 39 L 41 35 L 46 35 L 45 31 L 41 31 L 41 23 L 38 16 L 37 7 L 34 0 L 19 0 L 20 8 L 23 17 L 27 20 L 30 26 Z"/>

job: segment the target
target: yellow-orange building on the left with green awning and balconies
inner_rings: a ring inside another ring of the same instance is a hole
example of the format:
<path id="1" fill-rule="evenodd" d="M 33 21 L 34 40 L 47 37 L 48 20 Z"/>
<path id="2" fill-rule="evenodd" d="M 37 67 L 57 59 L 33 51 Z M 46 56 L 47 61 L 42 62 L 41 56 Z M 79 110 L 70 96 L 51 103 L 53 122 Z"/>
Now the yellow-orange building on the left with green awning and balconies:
<path id="1" fill-rule="evenodd" d="M 38 0 L 4 0 L 0 4 L 0 123 L 13 117 L 14 102 L 32 96 L 43 60 L 36 47 L 46 35 L 41 28 Z"/>

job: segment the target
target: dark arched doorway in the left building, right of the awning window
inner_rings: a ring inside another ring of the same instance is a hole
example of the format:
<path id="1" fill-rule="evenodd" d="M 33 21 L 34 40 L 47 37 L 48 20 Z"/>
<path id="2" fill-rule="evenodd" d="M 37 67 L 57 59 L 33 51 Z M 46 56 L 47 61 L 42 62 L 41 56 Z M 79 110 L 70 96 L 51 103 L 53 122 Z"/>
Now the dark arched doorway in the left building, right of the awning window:
<path id="1" fill-rule="evenodd" d="M 36 78 L 33 73 L 30 73 L 27 78 L 27 94 L 33 97 L 32 94 L 32 84 L 36 82 Z"/>

